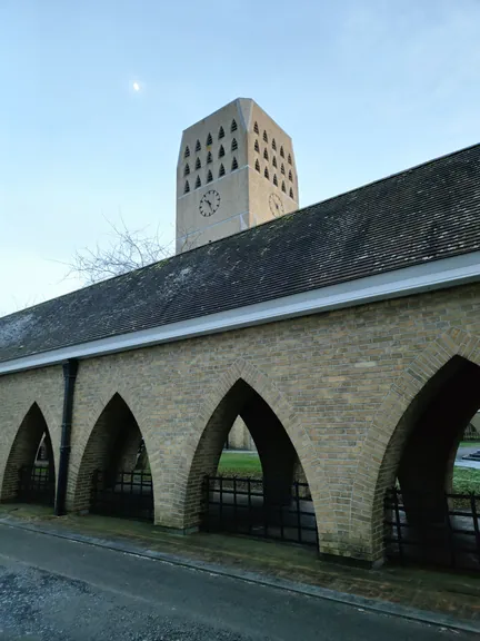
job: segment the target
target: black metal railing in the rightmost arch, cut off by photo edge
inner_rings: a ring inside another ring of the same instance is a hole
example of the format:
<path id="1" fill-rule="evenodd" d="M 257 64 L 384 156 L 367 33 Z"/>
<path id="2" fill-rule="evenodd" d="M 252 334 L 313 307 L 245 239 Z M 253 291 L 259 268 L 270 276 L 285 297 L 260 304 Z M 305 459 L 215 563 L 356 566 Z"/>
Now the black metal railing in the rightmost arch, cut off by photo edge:
<path id="1" fill-rule="evenodd" d="M 438 497 L 389 490 L 386 497 L 387 558 L 480 572 L 480 495 Z"/>

